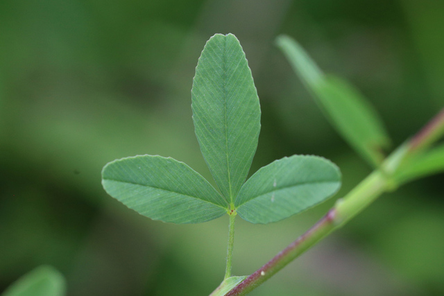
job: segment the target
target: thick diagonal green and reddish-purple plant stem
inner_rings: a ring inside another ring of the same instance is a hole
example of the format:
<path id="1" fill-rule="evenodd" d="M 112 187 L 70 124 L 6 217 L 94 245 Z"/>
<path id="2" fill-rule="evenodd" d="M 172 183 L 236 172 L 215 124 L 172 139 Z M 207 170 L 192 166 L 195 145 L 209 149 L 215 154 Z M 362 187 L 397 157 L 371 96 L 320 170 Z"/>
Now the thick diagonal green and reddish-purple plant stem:
<path id="1" fill-rule="evenodd" d="M 300 256 L 300 254 L 316 245 L 322 238 L 345 225 L 348 220 L 368 207 L 379 195 L 395 189 L 398 184 L 395 184 L 391 177 L 396 173 L 404 159 L 413 152 L 427 148 L 439 139 L 443 132 L 444 109 L 425 128 L 412 137 L 410 141 L 395 150 L 385 160 L 380 170 L 373 171 L 344 198 L 337 200 L 335 206 L 311 229 L 302 234 L 296 241 L 293 241 L 293 243 L 252 275 L 244 279 L 244 281 L 232 288 L 225 296 L 241 296 L 250 293 L 250 291 L 275 275 L 276 272 Z"/>

